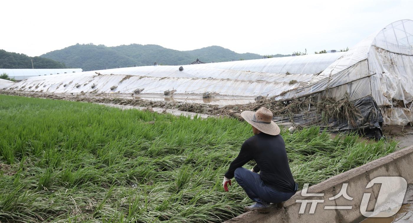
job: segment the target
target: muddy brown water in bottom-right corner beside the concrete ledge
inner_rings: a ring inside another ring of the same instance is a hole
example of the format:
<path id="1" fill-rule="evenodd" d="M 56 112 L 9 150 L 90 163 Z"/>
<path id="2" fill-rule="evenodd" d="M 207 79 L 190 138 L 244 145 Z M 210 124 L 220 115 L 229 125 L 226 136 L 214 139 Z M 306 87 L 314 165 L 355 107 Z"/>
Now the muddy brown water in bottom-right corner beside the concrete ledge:
<path id="1" fill-rule="evenodd" d="M 394 213 L 396 209 L 389 210 Z M 393 216 L 387 218 L 369 217 L 361 223 L 413 223 L 413 204 L 403 204 L 399 211 Z"/>

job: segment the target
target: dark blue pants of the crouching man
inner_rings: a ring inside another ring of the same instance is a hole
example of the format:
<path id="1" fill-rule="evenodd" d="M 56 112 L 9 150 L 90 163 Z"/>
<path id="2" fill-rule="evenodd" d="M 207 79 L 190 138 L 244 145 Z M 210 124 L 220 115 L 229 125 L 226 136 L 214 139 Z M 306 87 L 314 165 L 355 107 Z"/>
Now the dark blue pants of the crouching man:
<path id="1" fill-rule="evenodd" d="M 266 186 L 259 174 L 244 167 L 235 169 L 234 176 L 248 197 L 255 202 L 280 203 L 290 199 L 295 194 L 295 192 L 280 192 Z"/>

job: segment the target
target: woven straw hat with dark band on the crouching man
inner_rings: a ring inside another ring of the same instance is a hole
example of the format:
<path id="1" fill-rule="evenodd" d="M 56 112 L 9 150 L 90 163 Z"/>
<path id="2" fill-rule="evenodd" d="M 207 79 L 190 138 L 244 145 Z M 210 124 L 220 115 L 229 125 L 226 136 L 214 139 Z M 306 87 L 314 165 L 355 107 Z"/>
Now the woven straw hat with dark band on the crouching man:
<path id="1" fill-rule="evenodd" d="M 256 112 L 243 111 L 241 116 L 259 131 L 276 136 L 280 134 L 280 127 L 273 122 L 273 113 L 268 108 L 261 107 Z"/>

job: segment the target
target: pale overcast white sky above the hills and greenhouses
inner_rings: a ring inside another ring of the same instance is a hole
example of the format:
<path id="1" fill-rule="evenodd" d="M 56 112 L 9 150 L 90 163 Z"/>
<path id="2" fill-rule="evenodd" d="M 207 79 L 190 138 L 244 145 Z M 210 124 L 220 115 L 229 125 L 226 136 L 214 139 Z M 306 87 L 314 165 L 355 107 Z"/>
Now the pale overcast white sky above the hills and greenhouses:
<path id="1" fill-rule="evenodd" d="M 28 56 L 76 43 L 313 53 L 351 47 L 392 21 L 413 19 L 413 0 L 2 0 L 0 8 L 0 49 Z"/>

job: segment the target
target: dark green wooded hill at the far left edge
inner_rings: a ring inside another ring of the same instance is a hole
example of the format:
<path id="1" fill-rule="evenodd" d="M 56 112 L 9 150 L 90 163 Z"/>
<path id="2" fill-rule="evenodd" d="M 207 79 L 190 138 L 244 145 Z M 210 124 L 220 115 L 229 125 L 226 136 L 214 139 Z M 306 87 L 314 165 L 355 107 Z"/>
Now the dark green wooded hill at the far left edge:
<path id="1" fill-rule="evenodd" d="M 33 67 L 36 69 L 66 68 L 64 63 L 60 63 L 52 59 L 47 59 L 40 56 L 31 57 L 25 54 L 12 53 L 0 49 L 0 68 L 3 69 L 31 69 L 32 59 Z"/>

